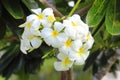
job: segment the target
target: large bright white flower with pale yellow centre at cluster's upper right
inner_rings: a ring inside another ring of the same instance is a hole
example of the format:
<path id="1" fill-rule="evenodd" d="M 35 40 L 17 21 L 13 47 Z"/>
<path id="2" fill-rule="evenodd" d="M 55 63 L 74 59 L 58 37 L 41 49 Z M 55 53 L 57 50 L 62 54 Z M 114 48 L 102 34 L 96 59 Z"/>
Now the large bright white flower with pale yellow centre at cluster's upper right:
<path id="1" fill-rule="evenodd" d="M 76 39 L 79 34 L 88 33 L 88 26 L 81 19 L 80 16 L 74 14 L 72 17 L 69 17 L 67 20 L 63 21 L 65 32 L 72 39 Z"/>

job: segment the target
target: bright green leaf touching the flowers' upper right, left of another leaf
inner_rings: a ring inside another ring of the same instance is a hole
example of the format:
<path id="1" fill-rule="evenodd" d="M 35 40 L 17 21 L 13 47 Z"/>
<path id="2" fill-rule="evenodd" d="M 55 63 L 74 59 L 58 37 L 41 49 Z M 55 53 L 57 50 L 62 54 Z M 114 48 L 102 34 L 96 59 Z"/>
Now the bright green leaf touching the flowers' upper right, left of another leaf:
<path id="1" fill-rule="evenodd" d="M 96 27 L 103 19 L 109 0 L 95 0 L 88 11 L 86 22 L 90 27 Z"/>

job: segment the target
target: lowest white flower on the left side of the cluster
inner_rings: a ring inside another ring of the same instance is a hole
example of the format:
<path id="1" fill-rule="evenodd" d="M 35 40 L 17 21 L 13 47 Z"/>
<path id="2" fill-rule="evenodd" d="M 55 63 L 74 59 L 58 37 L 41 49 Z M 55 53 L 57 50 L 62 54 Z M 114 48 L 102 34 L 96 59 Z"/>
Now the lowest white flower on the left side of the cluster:
<path id="1" fill-rule="evenodd" d="M 24 31 L 21 39 L 20 49 L 24 54 L 27 54 L 27 50 L 36 49 L 42 43 L 39 36 L 33 35 L 30 31 Z"/>

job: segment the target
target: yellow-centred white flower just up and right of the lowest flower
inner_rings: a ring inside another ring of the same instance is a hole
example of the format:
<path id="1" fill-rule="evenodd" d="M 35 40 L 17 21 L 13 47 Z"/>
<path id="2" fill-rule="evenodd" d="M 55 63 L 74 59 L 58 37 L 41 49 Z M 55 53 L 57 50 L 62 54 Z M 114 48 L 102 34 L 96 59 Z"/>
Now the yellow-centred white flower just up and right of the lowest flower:
<path id="1" fill-rule="evenodd" d="M 86 46 L 81 46 L 78 51 L 71 51 L 71 53 L 69 53 L 69 59 L 74 60 L 75 65 L 83 65 L 88 55 L 89 51 Z"/>

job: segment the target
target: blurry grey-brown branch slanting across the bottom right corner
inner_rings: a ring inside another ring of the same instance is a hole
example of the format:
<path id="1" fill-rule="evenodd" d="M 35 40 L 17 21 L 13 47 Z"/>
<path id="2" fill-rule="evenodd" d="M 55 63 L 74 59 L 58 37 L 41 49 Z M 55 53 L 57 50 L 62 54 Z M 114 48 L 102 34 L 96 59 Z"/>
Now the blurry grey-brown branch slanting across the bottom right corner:
<path id="1" fill-rule="evenodd" d="M 101 80 L 104 75 L 110 71 L 112 65 L 116 62 L 116 60 L 120 57 L 120 54 L 115 53 L 109 60 L 107 66 L 105 66 L 102 70 L 99 69 L 98 72 L 94 75 L 93 80 Z"/>

